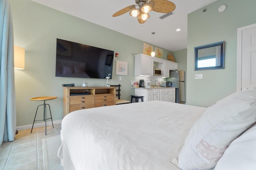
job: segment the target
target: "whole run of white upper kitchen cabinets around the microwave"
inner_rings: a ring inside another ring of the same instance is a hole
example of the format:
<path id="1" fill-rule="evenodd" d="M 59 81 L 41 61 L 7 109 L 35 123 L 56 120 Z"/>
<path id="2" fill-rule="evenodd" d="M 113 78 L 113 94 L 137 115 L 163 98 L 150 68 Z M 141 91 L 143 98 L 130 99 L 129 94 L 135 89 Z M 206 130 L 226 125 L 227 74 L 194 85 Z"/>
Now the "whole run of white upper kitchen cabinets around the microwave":
<path id="1" fill-rule="evenodd" d="M 154 62 L 158 63 L 158 69 L 161 70 L 161 76 L 170 76 L 170 70 L 178 70 L 178 63 L 151 57 L 149 55 L 135 55 L 135 76 L 154 76 Z"/>

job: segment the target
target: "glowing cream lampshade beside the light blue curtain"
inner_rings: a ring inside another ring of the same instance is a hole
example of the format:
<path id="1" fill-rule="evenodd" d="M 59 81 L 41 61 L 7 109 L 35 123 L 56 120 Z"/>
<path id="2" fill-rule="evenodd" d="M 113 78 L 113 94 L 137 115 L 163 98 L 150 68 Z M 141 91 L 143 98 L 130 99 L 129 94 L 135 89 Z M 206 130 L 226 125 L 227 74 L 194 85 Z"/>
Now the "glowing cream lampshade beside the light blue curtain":
<path id="1" fill-rule="evenodd" d="M 14 69 L 24 70 L 25 68 L 25 49 L 14 45 Z"/>

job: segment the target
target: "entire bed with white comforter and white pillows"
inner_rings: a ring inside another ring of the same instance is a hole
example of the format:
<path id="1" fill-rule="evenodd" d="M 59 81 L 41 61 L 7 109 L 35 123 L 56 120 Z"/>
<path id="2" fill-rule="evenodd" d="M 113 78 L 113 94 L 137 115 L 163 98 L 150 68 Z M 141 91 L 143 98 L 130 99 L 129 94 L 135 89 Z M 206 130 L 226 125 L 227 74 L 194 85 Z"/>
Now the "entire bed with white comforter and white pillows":
<path id="1" fill-rule="evenodd" d="M 151 101 L 84 109 L 64 117 L 58 156 L 66 170 L 255 170 L 255 123 L 256 87 L 208 108 Z"/>

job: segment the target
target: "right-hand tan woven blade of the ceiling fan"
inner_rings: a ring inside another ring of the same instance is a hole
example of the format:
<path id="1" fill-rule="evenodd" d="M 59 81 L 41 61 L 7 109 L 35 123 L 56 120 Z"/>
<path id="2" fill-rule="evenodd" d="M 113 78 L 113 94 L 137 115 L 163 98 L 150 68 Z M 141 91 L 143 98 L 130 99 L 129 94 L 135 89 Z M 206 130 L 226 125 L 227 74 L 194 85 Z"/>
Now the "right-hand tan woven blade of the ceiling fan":
<path id="1" fill-rule="evenodd" d="M 151 1 L 155 2 L 155 5 L 152 7 L 152 10 L 155 12 L 170 13 L 174 11 L 176 8 L 175 4 L 168 0 L 151 0 Z"/>

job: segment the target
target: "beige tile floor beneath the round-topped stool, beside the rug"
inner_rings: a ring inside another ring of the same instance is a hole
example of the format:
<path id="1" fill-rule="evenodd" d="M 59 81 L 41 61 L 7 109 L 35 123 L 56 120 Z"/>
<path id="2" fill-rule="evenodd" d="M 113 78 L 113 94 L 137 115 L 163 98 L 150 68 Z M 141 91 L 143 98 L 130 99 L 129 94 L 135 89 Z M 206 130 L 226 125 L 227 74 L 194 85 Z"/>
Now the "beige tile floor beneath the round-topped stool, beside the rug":
<path id="1" fill-rule="evenodd" d="M 61 124 L 18 131 L 12 142 L 0 146 L 0 170 L 44 170 L 42 139 L 60 135 Z"/>

